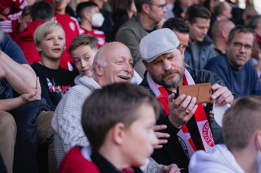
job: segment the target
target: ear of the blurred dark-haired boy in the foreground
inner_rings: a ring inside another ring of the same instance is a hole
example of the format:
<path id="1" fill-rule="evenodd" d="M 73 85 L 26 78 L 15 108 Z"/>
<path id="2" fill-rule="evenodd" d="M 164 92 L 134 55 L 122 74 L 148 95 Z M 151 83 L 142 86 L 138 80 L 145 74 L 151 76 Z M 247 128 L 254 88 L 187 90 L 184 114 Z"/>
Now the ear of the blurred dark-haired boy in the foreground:
<path id="1" fill-rule="evenodd" d="M 116 144 L 122 145 L 125 136 L 125 125 L 123 123 L 117 123 L 112 129 L 113 140 Z"/>

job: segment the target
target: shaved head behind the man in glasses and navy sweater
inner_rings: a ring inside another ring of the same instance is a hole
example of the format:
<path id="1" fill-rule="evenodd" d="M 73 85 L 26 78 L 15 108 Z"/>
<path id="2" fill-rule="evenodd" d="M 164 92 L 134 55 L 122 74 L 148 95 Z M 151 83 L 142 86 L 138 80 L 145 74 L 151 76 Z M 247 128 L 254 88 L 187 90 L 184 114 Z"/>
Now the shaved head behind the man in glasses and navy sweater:
<path id="1" fill-rule="evenodd" d="M 213 24 L 212 27 L 212 37 L 225 37 L 227 38 L 229 32 L 232 28 L 235 27 L 235 24 L 230 20 L 219 20 Z"/>

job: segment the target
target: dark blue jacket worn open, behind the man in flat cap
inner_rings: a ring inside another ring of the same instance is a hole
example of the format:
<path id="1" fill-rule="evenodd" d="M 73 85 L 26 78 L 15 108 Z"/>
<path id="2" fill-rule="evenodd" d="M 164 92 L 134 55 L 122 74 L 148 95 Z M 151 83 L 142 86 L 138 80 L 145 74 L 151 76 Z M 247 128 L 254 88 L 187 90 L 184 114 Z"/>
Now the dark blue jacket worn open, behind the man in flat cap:
<path id="1" fill-rule="evenodd" d="M 197 42 L 199 44 L 199 66 L 195 66 L 195 62 L 193 60 L 192 50 L 191 50 L 191 43 L 188 44 L 187 49 L 184 53 L 185 62 L 192 68 L 192 69 L 204 69 L 207 61 L 211 58 L 216 56 L 214 44 L 211 38 L 206 35 L 202 42 Z"/>

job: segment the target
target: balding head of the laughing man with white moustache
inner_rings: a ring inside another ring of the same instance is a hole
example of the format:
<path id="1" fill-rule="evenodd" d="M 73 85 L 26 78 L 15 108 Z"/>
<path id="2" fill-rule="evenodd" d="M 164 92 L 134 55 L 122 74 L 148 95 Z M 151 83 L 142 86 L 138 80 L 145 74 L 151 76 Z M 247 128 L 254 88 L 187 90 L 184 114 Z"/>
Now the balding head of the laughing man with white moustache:
<path id="1" fill-rule="evenodd" d="M 128 82 L 134 74 L 130 49 L 120 42 L 103 45 L 94 57 L 91 71 L 100 86 Z"/>

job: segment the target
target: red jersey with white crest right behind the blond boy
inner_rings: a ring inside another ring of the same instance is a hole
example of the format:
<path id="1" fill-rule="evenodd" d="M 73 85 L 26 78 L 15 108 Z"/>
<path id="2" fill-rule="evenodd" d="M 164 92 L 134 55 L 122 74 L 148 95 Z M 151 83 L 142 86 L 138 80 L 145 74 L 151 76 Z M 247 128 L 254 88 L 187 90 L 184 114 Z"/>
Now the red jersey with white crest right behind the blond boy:
<path id="1" fill-rule="evenodd" d="M 54 16 L 56 17 L 56 20 L 58 23 L 60 23 L 63 27 L 63 30 L 65 32 L 65 51 L 68 56 L 68 60 L 70 63 L 74 64 L 73 58 L 71 54 L 69 53 L 69 46 L 73 40 L 73 38 L 79 34 L 79 23 L 76 18 L 71 17 L 69 14 L 58 14 L 55 13 Z"/>

